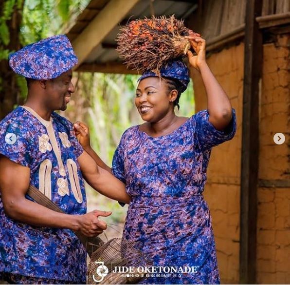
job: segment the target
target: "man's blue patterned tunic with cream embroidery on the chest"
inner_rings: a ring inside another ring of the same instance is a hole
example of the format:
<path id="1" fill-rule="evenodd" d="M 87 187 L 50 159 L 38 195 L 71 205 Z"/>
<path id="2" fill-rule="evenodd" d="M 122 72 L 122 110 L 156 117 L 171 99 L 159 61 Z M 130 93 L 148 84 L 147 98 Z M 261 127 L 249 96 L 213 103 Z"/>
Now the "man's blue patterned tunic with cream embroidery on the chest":
<path id="1" fill-rule="evenodd" d="M 67 214 L 86 213 L 85 187 L 77 161 L 82 152 L 72 123 L 56 113 L 45 121 L 32 109 L 19 106 L 0 122 L 0 154 L 29 167 L 30 183 Z M 27 282 L 36 277 L 58 280 L 59 284 L 84 284 L 86 251 L 69 229 L 10 219 L 0 194 L 0 272 L 27 276 Z"/>

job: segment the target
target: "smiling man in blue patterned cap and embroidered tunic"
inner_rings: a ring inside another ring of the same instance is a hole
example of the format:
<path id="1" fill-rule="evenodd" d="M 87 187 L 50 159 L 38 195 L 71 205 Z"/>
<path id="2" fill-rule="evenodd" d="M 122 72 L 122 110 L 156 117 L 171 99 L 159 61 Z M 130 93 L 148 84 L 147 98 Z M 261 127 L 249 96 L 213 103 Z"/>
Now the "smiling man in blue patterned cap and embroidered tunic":
<path id="1" fill-rule="evenodd" d="M 77 63 L 64 35 L 28 45 L 9 64 L 27 79 L 28 96 L 0 122 L 0 276 L 15 284 L 84 284 L 86 251 L 72 232 L 96 236 L 106 224 L 86 214 L 82 175 L 99 192 L 124 197 L 124 184 L 99 168 L 77 142 L 65 110 L 74 92 Z M 34 185 L 64 212 L 36 204 Z M 129 199 L 124 201 L 128 203 Z"/>

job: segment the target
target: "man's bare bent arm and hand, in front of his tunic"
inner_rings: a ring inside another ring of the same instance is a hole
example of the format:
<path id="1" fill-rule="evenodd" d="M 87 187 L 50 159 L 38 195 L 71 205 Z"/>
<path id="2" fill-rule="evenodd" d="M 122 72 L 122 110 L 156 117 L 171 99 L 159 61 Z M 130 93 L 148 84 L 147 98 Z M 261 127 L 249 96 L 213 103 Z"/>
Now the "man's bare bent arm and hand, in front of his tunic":
<path id="1" fill-rule="evenodd" d="M 17 179 L 15 179 L 17 177 Z M 85 215 L 69 215 L 55 212 L 26 199 L 30 183 L 30 169 L 0 155 L 0 191 L 6 215 L 20 223 L 36 226 L 69 228 L 86 236 L 96 236 L 107 224 L 98 219 L 111 212 L 92 211 Z"/>

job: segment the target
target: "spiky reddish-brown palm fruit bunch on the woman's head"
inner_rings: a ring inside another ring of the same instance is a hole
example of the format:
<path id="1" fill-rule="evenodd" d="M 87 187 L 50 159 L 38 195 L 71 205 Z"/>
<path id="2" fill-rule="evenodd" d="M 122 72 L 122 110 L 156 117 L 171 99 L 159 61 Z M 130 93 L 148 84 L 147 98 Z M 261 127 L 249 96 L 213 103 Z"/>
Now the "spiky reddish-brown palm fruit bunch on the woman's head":
<path id="1" fill-rule="evenodd" d="M 166 61 L 187 54 L 190 42 L 185 36 L 200 35 L 186 28 L 183 20 L 174 15 L 132 20 L 118 34 L 117 51 L 127 68 L 141 73 L 152 70 L 160 75 Z"/>

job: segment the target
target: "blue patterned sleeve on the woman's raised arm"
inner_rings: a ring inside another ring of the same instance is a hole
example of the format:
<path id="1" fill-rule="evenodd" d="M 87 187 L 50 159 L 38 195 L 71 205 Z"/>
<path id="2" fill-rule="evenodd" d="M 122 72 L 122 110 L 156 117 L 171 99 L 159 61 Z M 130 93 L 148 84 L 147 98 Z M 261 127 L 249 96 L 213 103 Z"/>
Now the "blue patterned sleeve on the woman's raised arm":
<path id="1" fill-rule="evenodd" d="M 194 115 L 196 133 L 202 150 L 207 150 L 222 142 L 231 140 L 236 133 L 236 112 L 233 109 L 232 120 L 225 130 L 217 130 L 209 122 L 208 110 L 202 110 Z"/>

